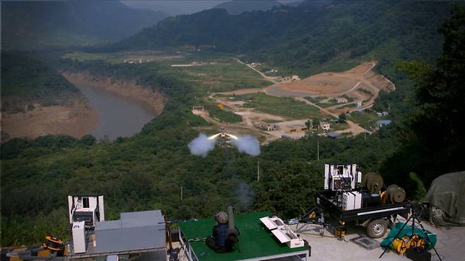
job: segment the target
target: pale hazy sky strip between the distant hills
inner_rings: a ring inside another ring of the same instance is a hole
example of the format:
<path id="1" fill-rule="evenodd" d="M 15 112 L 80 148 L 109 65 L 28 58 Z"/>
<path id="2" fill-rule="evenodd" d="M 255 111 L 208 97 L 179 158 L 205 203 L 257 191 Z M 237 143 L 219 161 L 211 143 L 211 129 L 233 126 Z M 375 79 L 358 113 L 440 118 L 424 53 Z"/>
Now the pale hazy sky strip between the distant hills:
<path id="1" fill-rule="evenodd" d="M 228 0 L 124 0 L 127 6 L 132 8 L 150 8 L 153 10 L 164 11 L 170 16 L 179 14 L 196 13 L 205 9 L 212 8 Z M 278 0 L 281 3 L 298 1 L 298 0 Z"/>

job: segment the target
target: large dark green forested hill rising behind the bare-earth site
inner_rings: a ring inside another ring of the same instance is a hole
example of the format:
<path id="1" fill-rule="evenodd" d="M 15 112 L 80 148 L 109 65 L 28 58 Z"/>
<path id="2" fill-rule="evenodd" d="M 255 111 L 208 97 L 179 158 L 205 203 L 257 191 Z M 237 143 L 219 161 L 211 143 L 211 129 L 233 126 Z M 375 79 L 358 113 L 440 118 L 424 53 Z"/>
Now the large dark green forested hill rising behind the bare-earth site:
<path id="1" fill-rule="evenodd" d="M 443 1 L 328 1 L 236 16 L 211 9 L 167 18 L 107 50 L 203 45 L 306 75 L 348 59 L 437 57 L 437 28 L 451 6 Z"/>

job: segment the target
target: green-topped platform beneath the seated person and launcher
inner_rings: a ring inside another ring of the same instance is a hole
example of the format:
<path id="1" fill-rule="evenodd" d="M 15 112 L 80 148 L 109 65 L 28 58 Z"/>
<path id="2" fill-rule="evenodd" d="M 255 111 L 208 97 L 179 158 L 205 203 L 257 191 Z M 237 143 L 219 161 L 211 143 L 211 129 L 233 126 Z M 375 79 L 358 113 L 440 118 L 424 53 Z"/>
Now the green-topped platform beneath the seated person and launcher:
<path id="1" fill-rule="evenodd" d="M 291 249 L 287 244 L 280 243 L 273 233 L 261 224 L 259 220 L 261 217 L 269 216 L 270 214 L 269 212 L 259 212 L 235 215 L 235 225 L 240 231 L 240 253 L 237 249 L 232 253 L 215 253 L 203 241 L 191 241 L 189 244 L 199 261 L 254 260 L 259 257 L 273 255 L 292 255 L 293 253 L 298 255 L 308 251 L 305 247 Z M 186 240 L 211 236 L 214 225 L 214 219 L 200 219 L 199 221 L 186 221 L 179 224 Z M 201 253 L 205 253 L 204 257 L 201 257 Z"/>

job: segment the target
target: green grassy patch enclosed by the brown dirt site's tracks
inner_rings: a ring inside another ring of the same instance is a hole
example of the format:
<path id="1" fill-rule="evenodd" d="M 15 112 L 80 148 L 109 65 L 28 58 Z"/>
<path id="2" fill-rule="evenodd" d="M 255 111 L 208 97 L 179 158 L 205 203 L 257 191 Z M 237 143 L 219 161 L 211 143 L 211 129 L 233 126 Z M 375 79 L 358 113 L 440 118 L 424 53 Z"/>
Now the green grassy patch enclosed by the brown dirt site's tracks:
<path id="1" fill-rule="evenodd" d="M 247 101 L 244 105 L 246 108 L 255 108 L 261 112 L 286 117 L 289 120 L 322 117 L 318 108 L 293 98 L 274 97 L 264 93 L 238 95 L 236 97 L 237 100 Z M 252 98 L 251 101 L 249 101 L 250 98 Z"/>

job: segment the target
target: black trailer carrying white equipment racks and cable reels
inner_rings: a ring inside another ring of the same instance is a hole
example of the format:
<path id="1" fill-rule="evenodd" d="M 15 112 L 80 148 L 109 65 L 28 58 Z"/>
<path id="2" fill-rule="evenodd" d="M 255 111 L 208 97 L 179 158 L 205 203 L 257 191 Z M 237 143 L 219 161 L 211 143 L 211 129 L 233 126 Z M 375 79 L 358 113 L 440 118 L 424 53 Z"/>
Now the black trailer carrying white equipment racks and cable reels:
<path id="1" fill-rule="evenodd" d="M 380 238 L 398 215 L 407 218 L 412 209 L 401 187 L 384 189 L 381 176 L 368 173 L 362 178 L 355 164 L 326 164 L 324 179 L 324 190 L 315 196 L 316 207 L 299 222 L 335 228 L 338 238 L 345 235 L 349 222 L 367 228 L 371 238 Z"/>

